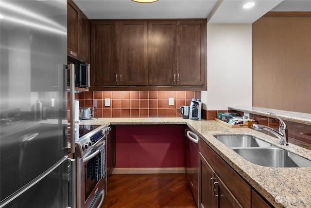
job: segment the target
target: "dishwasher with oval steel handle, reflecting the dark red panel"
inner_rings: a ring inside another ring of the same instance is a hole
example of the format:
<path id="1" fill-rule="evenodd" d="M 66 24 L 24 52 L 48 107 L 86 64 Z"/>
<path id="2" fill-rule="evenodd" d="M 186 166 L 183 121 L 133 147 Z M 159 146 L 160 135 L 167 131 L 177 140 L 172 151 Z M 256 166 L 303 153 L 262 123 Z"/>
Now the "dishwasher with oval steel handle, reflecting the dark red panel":
<path id="1" fill-rule="evenodd" d="M 187 180 L 195 200 L 199 201 L 199 136 L 190 129 L 185 130 L 185 168 Z"/>

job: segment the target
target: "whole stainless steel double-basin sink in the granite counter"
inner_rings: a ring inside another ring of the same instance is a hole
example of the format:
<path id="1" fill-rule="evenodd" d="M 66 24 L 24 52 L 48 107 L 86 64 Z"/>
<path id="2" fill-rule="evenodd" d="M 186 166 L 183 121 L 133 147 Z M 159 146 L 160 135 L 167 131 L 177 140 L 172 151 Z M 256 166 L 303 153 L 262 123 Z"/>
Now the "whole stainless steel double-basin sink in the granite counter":
<path id="1" fill-rule="evenodd" d="M 266 167 L 311 167 L 311 161 L 251 135 L 216 135 L 247 161 Z"/>

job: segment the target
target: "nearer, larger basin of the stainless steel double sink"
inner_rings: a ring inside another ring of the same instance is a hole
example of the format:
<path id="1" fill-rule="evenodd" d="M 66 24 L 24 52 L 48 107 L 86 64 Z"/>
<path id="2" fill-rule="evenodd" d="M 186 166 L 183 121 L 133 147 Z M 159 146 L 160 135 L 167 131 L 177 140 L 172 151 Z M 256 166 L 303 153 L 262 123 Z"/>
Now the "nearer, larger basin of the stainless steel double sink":
<path id="1" fill-rule="evenodd" d="M 240 148 L 234 149 L 251 163 L 275 168 L 311 167 L 311 161 L 289 151 L 278 148 Z"/>

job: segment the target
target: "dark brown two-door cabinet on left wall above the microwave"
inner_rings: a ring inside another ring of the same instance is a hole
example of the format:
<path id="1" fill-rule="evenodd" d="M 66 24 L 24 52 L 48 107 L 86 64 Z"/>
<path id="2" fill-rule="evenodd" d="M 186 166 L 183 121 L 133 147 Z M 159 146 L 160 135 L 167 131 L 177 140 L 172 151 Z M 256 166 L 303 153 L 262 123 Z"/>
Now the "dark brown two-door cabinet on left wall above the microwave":
<path id="1" fill-rule="evenodd" d="M 89 22 L 71 0 L 67 1 L 67 54 L 88 62 Z"/>

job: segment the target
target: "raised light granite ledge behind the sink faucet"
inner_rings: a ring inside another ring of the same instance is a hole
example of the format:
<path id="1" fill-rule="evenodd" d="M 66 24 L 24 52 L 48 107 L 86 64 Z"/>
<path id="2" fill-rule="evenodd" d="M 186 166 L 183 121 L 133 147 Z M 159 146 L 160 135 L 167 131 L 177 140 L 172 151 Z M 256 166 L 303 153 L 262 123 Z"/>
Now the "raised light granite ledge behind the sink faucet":
<path id="1" fill-rule="evenodd" d="M 253 113 L 253 114 L 258 114 L 258 115 L 263 115 L 263 116 L 268 116 L 268 117 L 274 117 L 273 115 L 267 113 L 267 112 L 272 112 L 285 121 L 292 121 L 296 123 L 311 125 L 311 114 L 310 113 L 282 111 L 282 110 L 260 108 L 260 107 L 253 107 L 253 106 L 229 106 L 228 109 L 247 112 L 247 113 Z"/>

